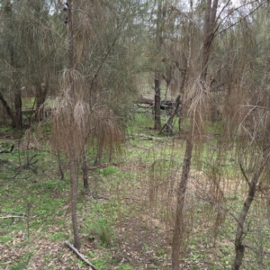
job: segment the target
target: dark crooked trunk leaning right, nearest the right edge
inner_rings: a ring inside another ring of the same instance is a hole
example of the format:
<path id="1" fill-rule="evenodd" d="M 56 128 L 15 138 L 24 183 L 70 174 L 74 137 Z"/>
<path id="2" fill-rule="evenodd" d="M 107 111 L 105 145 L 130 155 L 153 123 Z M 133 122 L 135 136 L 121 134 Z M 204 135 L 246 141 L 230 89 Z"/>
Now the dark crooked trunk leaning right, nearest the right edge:
<path id="1" fill-rule="evenodd" d="M 247 218 L 247 213 L 251 207 L 251 203 L 253 202 L 255 198 L 255 194 L 257 192 L 257 182 L 259 180 L 260 175 L 262 174 L 264 170 L 264 166 L 266 164 L 266 158 L 262 157 L 260 164 L 258 165 L 257 172 L 253 175 L 251 182 L 249 183 L 248 193 L 246 201 L 244 202 L 242 211 L 240 212 L 239 218 L 238 218 L 238 228 L 236 237 L 234 240 L 235 245 L 235 258 L 233 262 L 233 266 L 231 267 L 232 270 L 238 270 L 240 269 L 240 266 L 242 265 L 243 257 L 245 255 L 245 245 L 243 244 L 243 239 L 245 237 L 244 232 L 244 226 L 245 226 L 245 220 Z"/>

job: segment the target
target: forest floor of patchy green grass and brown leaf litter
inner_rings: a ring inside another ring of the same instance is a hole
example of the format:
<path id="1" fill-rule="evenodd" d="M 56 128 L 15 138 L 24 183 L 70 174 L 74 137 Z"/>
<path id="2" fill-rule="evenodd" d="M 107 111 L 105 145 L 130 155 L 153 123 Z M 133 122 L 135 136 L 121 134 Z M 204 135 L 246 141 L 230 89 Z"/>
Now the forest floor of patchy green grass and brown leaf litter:
<path id="1" fill-rule="evenodd" d="M 112 162 L 103 157 L 94 166 L 94 149 L 88 149 L 89 193 L 77 171 L 81 252 L 99 269 L 170 269 L 185 142 L 157 135 L 151 125 L 152 115 L 136 114 L 125 151 Z M 212 130 L 220 126 L 216 123 Z M 63 245 L 72 241 L 68 164 L 61 157 L 65 179 L 60 180 L 58 158 L 43 139 L 48 129 L 39 132 L 29 144 L 25 138 L 0 141 L 0 149 L 15 145 L 12 154 L 0 157 L 0 267 L 57 269 L 62 264 L 86 269 Z M 230 269 L 247 184 L 233 152 L 220 155 L 215 137 L 202 143 L 201 157 L 193 157 L 185 198 L 181 264 L 183 269 Z M 262 206 L 266 200 L 258 196 L 248 214 L 243 269 L 270 269 L 269 211 Z"/>

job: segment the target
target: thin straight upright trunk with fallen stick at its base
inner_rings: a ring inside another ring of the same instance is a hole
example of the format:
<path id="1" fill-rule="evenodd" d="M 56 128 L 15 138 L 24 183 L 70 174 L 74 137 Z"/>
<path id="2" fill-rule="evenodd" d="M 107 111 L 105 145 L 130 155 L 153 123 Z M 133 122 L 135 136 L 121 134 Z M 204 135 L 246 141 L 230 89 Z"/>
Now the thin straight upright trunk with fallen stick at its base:
<path id="1" fill-rule="evenodd" d="M 72 98 L 72 105 L 70 108 L 71 113 L 71 123 L 70 123 L 70 132 L 74 132 L 74 115 L 73 110 L 76 104 L 76 93 L 75 93 L 75 78 L 74 78 L 74 42 L 73 42 L 73 1 L 68 1 L 67 9 L 67 42 L 68 42 L 68 71 L 69 71 L 69 82 L 70 82 L 70 95 Z M 73 234 L 74 234 L 74 247 L 79 249 L 81 247 L 79 234 L 78 234 L 78 225 L 77 225 L 77 216 L 76 216 L 76 175 L 75 175 L 75 145 L 74 145 L 74 136 L 71 136 L 71 142 L 69 145 L 69 170 L 70 170 L 70 198 L 71 198 L 71 217 L 73 225 Z"/>

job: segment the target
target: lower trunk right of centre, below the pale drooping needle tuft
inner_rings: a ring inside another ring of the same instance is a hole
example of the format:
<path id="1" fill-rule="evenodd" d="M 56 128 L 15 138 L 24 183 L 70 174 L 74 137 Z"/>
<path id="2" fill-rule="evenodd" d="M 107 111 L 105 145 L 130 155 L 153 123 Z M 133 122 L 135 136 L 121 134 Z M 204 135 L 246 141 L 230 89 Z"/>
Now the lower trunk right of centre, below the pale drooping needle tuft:
<path id="1" fill-rule="evenodd" d="M 192 126 L 189 131 L 188 139 L 186 139 L 185 154 L 184 154 L 184 164 L 182 167 L 181 182 L 178 187 L 177 192 L 177 206 L 175 214 L 175 228 L 173 235 L 173 246 L 172 246 L 172 269 L 179 270 L 179 253 L 181 242 L 184 237 L 184 196 L 186 191 L 186 186 L 188 183 L 191 159 L 193 153 L 193 135 L 194 135 L 194 115 L 192 120 Z"/>

